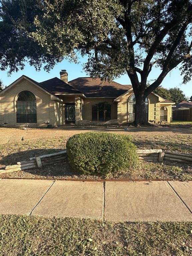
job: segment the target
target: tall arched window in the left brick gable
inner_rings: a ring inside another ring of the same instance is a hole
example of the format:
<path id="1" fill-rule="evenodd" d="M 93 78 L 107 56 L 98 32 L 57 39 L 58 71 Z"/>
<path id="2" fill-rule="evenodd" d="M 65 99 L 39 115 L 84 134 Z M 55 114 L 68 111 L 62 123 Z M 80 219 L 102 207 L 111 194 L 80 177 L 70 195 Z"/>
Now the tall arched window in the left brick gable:
<path id="1" fill-rule="evenodd" d="M 37 123 L 36 98 L 30 91 L 20 92 L 17 98 L 17 123 Z"/>

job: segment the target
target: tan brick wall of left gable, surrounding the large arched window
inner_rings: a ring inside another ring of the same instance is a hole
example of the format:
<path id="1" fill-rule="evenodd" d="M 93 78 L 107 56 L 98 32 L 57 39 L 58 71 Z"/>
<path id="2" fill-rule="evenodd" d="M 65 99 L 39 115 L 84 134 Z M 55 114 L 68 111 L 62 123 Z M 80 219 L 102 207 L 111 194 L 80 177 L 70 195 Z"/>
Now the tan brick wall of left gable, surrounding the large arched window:
<path id="1" fill-rule="evenodd" d="M 16 101 L 20 92 L 31 91 L 37 101 L 37 123 L 29 123 L 29 127 L 47 127 L 46 121 L 57 126 L 63 123 L 63 106 L 61 102 L 51 100 L 51 96 L 30 83 L 22 79 L 5 94 L 0 96 L 0 125 L 8 122 L 6 126 L 25 126 L 25 123 L 17 123 Z"/>

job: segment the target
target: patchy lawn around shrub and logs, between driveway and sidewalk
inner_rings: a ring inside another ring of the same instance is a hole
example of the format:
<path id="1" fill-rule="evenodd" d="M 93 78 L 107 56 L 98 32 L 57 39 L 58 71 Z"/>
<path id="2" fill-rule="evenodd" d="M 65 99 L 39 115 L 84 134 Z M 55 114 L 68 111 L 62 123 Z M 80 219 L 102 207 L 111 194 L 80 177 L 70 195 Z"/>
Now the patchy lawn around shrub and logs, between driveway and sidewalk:
<path id="1" fill-rule="evenodd" d="M 0 145 L 0 169 L 30 157 L 65 150 L 68 137 L 42 138 Z M 192 153 L 192 135 L 177 133 L 133 133 L 133 143 L 139 149 L 163 149 Z M 192 180 L 192 166 L 174 162 L 140 162 L 137 170 L 128 170 L 107 177 L 85 176 L 74 171 L 68 162 L 45 166 L 42 169 L 29 169 L 7 174 L 1 177 L 16 178 L 128 178 L 128 179 L 181 179 Z"/>

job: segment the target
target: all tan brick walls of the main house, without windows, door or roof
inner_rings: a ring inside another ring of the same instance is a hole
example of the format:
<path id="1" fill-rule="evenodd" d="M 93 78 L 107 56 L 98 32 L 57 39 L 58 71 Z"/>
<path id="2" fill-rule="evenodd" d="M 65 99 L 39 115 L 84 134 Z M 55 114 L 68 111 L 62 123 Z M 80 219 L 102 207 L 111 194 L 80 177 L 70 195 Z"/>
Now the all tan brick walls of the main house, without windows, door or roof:
<path id="1" fill-rule="evenodd" d="M 8 122 L 6 126 L 25 126 L 26 124 L 17 123 L 16 100 L 18 94 L 24 90 L 31 91 L 37 101 L 37 123 L 29 123 L 29 127 L 47 127 L 46 121 L 50 121 L 53 126 L 65 124 L 65 103 L 75 103 L 76 124 L 80 124 L 82 120 L 92 121 L 92 106 L 103 101 L 111 104 L 110 123 L 127 123 L 129 122 L 129 98 L 133 94 L 130 92 L 120 98 L 119 102 L 113 102 L 113 98 L 85 98 L 79 95 L 65 95 L 62 97 L 63 102 L 51 100 L 51 96 L 23 79 L 5 94 L 0 96 L 0 125 Z M 154 94 L 148 96 L 149 100 L 149 118 L 148 120 L 160 121 L 160 107 L 165 106 L 168 110 L 168 122 L 171 121 L 171 104 L 163 105 L 159 103 L 162 100 Z M 84 122 L 85 123 L 85 122 Z"/>

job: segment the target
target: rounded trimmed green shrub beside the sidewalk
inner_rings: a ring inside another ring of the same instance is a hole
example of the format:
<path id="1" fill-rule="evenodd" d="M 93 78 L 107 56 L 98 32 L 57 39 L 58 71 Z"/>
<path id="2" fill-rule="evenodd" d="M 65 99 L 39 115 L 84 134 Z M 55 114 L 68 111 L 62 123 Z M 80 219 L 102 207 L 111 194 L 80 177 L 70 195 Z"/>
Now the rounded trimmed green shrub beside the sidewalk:
<path id="1" fill-rule="evenodd" d="M 75 170 L 91 175 L 118 172 L 138 164 L 136 146 L 130 136 L 107 132 L 86 132 L 70 137 L 67 156 Z"/>

